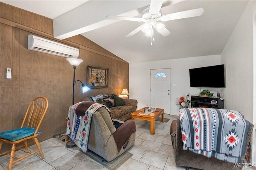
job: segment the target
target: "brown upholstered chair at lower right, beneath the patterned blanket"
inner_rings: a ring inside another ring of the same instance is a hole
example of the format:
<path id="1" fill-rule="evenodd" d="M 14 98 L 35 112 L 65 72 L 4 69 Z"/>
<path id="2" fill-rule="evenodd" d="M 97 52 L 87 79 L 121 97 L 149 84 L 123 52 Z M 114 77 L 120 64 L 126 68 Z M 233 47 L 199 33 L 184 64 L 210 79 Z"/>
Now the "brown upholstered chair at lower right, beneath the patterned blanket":
<path id="1" fill-rule="evenodd" d="M 178 117 L 177 120 L 172 121 L 172 124 L 170 127 L 170 134 L 171 134 L 171 139 L 174 147 L 174 158 L 177 166 L 185 166 L 187 170 L 189 169 L 189 167 L 203 169 L 203 170 L 209 170 L 209 169 L 241 170 L 243 168 L 242 166 L 234 167 L 234 163 L 232 162 L 219 160 L 214 157 L 208 158 L 201 154 L 196 154 L 190 150 L 184 150 L 183 143 L 182 143 L 182 137 L 183 137 L 181 132 L 182 128 L 181 128 L 180 122 L 181 122 L 180 117 Z M 246 149 L 248 148 L 248 145 L 250 143 L 253 126 L 254 125 L 250 123 L 248 134 L 244 140 Z M 244 163 L 246 150 L 243 150 L 243 152 L 244 154 L 242 155 L 242 160 L 239 163 Z"/>

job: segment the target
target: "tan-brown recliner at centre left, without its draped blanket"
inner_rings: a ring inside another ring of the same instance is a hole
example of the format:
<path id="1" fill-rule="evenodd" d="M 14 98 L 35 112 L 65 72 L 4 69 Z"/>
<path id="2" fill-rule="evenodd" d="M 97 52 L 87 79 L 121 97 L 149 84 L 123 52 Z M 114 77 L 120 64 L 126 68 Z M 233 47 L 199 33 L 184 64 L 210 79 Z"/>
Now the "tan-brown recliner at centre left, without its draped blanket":
<path id="1" fill-rule="evenodd" d="M 120 122 L 123 124 L 116 129 L 105 107 L 100 107 L 94 112 L 92 115 L 88 149 L 109 162 L 132 147 L 136 136 L 135 122 L 132 120 Z M 127 140 L 125 139 L 123 140 L 124 142 L 120 142 L 122 140 L 120 134 L 124 136 L 124 134 L 131 132 L 133 133 L 127 137 Z"/>

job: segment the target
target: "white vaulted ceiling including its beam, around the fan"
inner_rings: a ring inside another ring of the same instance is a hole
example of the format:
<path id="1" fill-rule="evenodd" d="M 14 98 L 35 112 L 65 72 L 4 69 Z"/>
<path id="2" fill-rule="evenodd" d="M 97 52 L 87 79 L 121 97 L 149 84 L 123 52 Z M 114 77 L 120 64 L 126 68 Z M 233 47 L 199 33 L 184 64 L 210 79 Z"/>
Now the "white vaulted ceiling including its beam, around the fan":
<path id="1" fill-rule="evenodd" d="M 6 4 L 53 19 L 54 37 L 81 34 L 128 63 L 220 55 L 248 1 L 165 1 L 162 15 L 204 8 L 201 16 L 163 22 L 170 35 L 154 33 L 155 41 L 139 31 L 137 21 L 106 20 L 106 16 L 141 17 L 150 0 L 2 0 Z M 110 13 L 110 14 L 108 14 Z"/>

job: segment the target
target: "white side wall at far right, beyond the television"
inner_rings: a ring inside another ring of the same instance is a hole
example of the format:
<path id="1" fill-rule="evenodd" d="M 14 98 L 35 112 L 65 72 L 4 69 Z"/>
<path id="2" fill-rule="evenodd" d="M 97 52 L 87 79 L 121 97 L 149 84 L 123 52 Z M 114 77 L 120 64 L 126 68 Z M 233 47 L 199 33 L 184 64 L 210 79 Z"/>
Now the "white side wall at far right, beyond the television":
<path id="1" fill-rule="evenodd" d="M 253 114 L 255 113 L 253 85 L 256 79 L 253 75 L 254 15 L 253 1 L 249 1 L 221 55 L 221 62 L 226 66 L 226 88 L 223 90 L 225 108 L 240 111 L 251 122 L 255 120 Z M 255 129 L 255 121 L 252 123 Z M 252 137 L 254 135 L 255 131 Z M 251 155 L 254 155 L 253 162 L 256 162 L 255 140 L 252 144 Z"/>

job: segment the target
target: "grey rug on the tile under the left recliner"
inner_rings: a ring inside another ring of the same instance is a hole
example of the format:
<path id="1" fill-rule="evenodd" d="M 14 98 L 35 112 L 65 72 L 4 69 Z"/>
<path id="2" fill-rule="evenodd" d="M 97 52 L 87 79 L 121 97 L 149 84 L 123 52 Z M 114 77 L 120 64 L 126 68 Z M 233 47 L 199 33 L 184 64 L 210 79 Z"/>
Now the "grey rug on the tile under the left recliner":
<path id="1" fill-rule="evenodd" d="M 110 162 L 108 162 L 106 160 L 104 162 L 102 162 L 103 158 L 101 156 L 99 156 L 98 154 L 92 152 L 92 151 L 86 152 L 85 154 L 87 156 L 89 156 L 90 158 L 92 158 L 93 160 L 97 161 L 102 166 L 108 168 L 109 170 L 116 170 L 124 162 L 126 162 L 126 160 L 128 160 L 133 155 L 133 154 L 126 151 L 126 152 L 124 152 L 123 154 L 121 154 L 120 156 L 118 156 L 117 158 L 115 158 L 114 160 L 112 160 Z"/>

